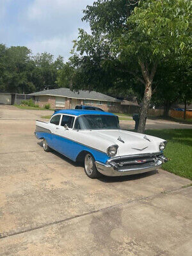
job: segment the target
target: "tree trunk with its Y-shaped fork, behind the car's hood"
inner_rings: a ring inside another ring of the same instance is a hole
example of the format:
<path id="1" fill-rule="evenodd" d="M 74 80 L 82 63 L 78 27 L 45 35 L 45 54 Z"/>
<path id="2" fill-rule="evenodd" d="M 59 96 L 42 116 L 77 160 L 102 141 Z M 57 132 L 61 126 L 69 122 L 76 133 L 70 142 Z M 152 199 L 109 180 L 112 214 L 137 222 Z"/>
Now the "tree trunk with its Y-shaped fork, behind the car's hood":
<path id="1" fill-rule="evenodd" d="M 150 104 L 150 99 L 152 97 L 152 81 L 156 74 L 157 63 L 153 63 L 150 74 L 148 72 L 148 63 L 143 63 L 142 61 L 139 60 L 139 64 L 141 67 L 143 79 L 145 81 L 145 93 L 143 96 L 143 102 L 142 102 L 142 106 L 141 106 L 140 124 L 138 127 L 138 132 L 144 133 L 148 107 Z"/>

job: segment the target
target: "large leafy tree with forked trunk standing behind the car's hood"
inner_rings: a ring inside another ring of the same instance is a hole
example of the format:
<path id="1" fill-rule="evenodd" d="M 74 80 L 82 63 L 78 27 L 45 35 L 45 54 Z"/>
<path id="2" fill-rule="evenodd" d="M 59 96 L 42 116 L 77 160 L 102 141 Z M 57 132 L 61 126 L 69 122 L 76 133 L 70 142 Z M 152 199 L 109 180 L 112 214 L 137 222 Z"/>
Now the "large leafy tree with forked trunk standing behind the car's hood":
<path id="1" fill-rule="evenodd" d="M 109 56 L 120 61 L 124 72 L 143 86 L 138 131 L 144 132 L 157 68 L 165 60 L 189 61 L 191 2 L 98 0 L 83 12 L 83 20 L 90 23 L 92 35 L 79 29 L 74 59 L 81 63 L 84 55 L 92 55 L 95 45 L 109 48 Z"/>

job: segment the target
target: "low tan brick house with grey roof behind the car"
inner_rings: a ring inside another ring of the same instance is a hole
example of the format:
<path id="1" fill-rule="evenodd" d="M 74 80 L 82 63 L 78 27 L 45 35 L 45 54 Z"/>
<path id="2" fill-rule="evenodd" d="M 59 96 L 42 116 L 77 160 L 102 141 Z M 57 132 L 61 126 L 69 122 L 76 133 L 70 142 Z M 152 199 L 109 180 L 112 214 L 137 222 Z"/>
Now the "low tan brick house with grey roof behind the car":
<path id="1" fill-rule="evenodd" d="M 59 88 L 30 93 L 35 97 L 35 103 L 40 107 L 50 104 L 51 108 L 74 109 L 76 105 L 91 105 L 102 108 L 104 111 L 120 111 L 122 100 L 115 99 L 99 92 L 79 90 L 71 91 L 69 88 Z"/>

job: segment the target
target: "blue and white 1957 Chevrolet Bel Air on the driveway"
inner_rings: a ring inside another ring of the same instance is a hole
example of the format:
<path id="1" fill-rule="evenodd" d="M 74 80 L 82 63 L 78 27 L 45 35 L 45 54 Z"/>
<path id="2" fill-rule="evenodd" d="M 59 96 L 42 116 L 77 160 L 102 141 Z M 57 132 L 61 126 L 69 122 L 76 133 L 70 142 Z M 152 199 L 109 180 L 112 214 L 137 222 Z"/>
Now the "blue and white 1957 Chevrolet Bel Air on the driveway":
<path id="1" fill-rule="evenodd" d="M 68 109 L 56 111 L 48 123 L 36 121 L 36 138 L 72 161 L 83 161 L 84 171 L 94 179 L 156 170 L 168 161 L 166 141 L 121 130 L 112 113 Z"/>

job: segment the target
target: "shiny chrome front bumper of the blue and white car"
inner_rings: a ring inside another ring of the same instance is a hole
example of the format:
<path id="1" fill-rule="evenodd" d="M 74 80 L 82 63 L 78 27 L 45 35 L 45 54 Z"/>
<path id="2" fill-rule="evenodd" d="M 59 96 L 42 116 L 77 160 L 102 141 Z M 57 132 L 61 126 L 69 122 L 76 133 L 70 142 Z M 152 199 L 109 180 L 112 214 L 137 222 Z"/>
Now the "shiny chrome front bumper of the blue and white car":
<path id="1" fill-rule="evenodd" d="M 141 157 L 143 155 L 138 155 L 137 157 Z M 109 160 L 107 163 L 101 163 L 99 161 L 96 161 L 96 167 L 97 170 L 106 176 L 125 176 L 125 175 L 132 175 L 137 173 L 144 173 L 144 172 L 150 172 L 153 170 L 156 170 L 157 168 L 160 168 L 161 165 L 168 161 L 166 157 L 163 156 L 163 154 L 159 155 L 149 155 L 146 154 L 146 157 L 154 157 L 151 159 L 151 161 L 140 161 L 140 160 L 134 160 L 136 157 L 131 159 L 131 156 L 128 157 L 125 161 L 121 163 L 115 163 L 114 161 Z M 118 158 L 117 158 L 118 159 Z M 121 157 L 119 158 L 121 159 Z M 119 160 L 118 159 L 118 160 Z M 136 163 L 138 162 L 138 163 Z M 146 162 L 146 163 L 145 163 Z M 121 167 L 122 166 L 122 167 Z"/>

